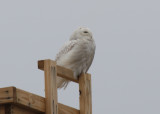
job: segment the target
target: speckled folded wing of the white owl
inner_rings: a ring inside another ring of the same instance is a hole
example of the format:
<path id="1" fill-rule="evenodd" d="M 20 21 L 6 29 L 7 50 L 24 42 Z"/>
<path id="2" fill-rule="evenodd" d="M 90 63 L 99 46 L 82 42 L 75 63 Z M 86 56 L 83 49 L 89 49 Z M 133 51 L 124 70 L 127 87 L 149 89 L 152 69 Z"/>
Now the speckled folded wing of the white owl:
<path id="1" fill-rule="evenodd" d="M 59 53 L 56 55 L 56 61 L 59 60 L 63 55 L 67 54 L 72 48 L 77 44 L 77 40 L 71 40 L 66 42 L 62 48 L 60 49 Z"/>

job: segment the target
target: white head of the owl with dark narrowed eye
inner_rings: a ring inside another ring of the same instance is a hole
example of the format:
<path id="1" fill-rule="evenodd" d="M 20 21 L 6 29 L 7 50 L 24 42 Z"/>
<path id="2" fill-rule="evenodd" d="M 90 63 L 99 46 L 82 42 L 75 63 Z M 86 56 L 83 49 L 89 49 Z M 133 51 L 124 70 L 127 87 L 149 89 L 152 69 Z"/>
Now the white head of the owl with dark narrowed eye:
<path id="1" fill-rule="evenodd" d="M 80 27 L 73 32 L 71 35 L 70 40 L 77 40 L 77 39 L 92 39 L 91 31 L 86 27 Z"/>

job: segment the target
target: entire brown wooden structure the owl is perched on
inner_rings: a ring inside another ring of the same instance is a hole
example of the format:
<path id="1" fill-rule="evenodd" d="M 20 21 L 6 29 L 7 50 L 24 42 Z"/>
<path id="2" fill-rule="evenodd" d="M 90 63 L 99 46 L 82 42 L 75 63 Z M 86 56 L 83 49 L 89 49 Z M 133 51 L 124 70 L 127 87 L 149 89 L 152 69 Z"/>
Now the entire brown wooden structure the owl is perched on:
<path id="1" fill-rule="evenodd" d="M 38 61 L 38 68 L 45 75 L 45 98 L 15 87 L 0 88 L 0 114 L 92 114 L 90 74 L 82 74 L 76 80 L 71 70 L 52 60 Z M 79 110 L 58 103 L 57 76 L 79 84 Z"/>

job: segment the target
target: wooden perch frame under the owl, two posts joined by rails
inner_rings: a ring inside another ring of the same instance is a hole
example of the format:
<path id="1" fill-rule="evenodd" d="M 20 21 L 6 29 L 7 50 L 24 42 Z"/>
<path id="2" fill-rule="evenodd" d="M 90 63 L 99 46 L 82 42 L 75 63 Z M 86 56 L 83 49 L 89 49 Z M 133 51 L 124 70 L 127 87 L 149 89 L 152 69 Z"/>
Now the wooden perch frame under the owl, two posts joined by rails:
<path id="1" fill-rule="evenodd" d="M 58 114 L 57 112 L 57 87 L 56 76 L 68 79 L 79 83 L 80 91 L 80 110 L 59 104 L 59 114 L 92 114 L 92 91 L 91 91 L 91 75 L 82 74 L 79 80 L 73 78 L 73 71 L 62 66 L 56 65 L 56 62 L 51 60 L 38 61 L 38 68 L 45 71 L 45 88 L 46 88 L 46 114 Z M 51 77 L 54 75 L 54 77 Z M 52 79 L 51 79 L 52 78 Z M 52 85 L 53 84 L 53 85 Z M 52 89 L 50 87 L 53 87 Z M 47 89 L 49 88 L 49 89 Z M 53 96 L 50 96 L 52 93 Z M 48 100 L 47 100 L 48 99 Z M 53 99 L 53 105 L 50 101 Z M 55 103 L 55 104 L 54 104 Z M 49 106 L 49 108 L 48 108 Z M 52 111 L 51 107 L 54 107 Z M 50 112 L 48 110 L 51 110 Z M 56 112 L 55 112 L 56 111 Z"/>

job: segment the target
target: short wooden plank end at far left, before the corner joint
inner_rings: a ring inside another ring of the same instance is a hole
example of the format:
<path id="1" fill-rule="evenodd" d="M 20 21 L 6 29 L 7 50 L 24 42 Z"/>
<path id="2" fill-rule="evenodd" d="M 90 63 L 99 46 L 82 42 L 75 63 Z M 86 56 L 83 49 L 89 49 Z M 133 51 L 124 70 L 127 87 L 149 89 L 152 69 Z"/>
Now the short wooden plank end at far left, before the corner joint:
<path id="1" fill-rule="evenodd" d="M 14 87 L 0 88 L 0 104 L 13 102 Z"/>

